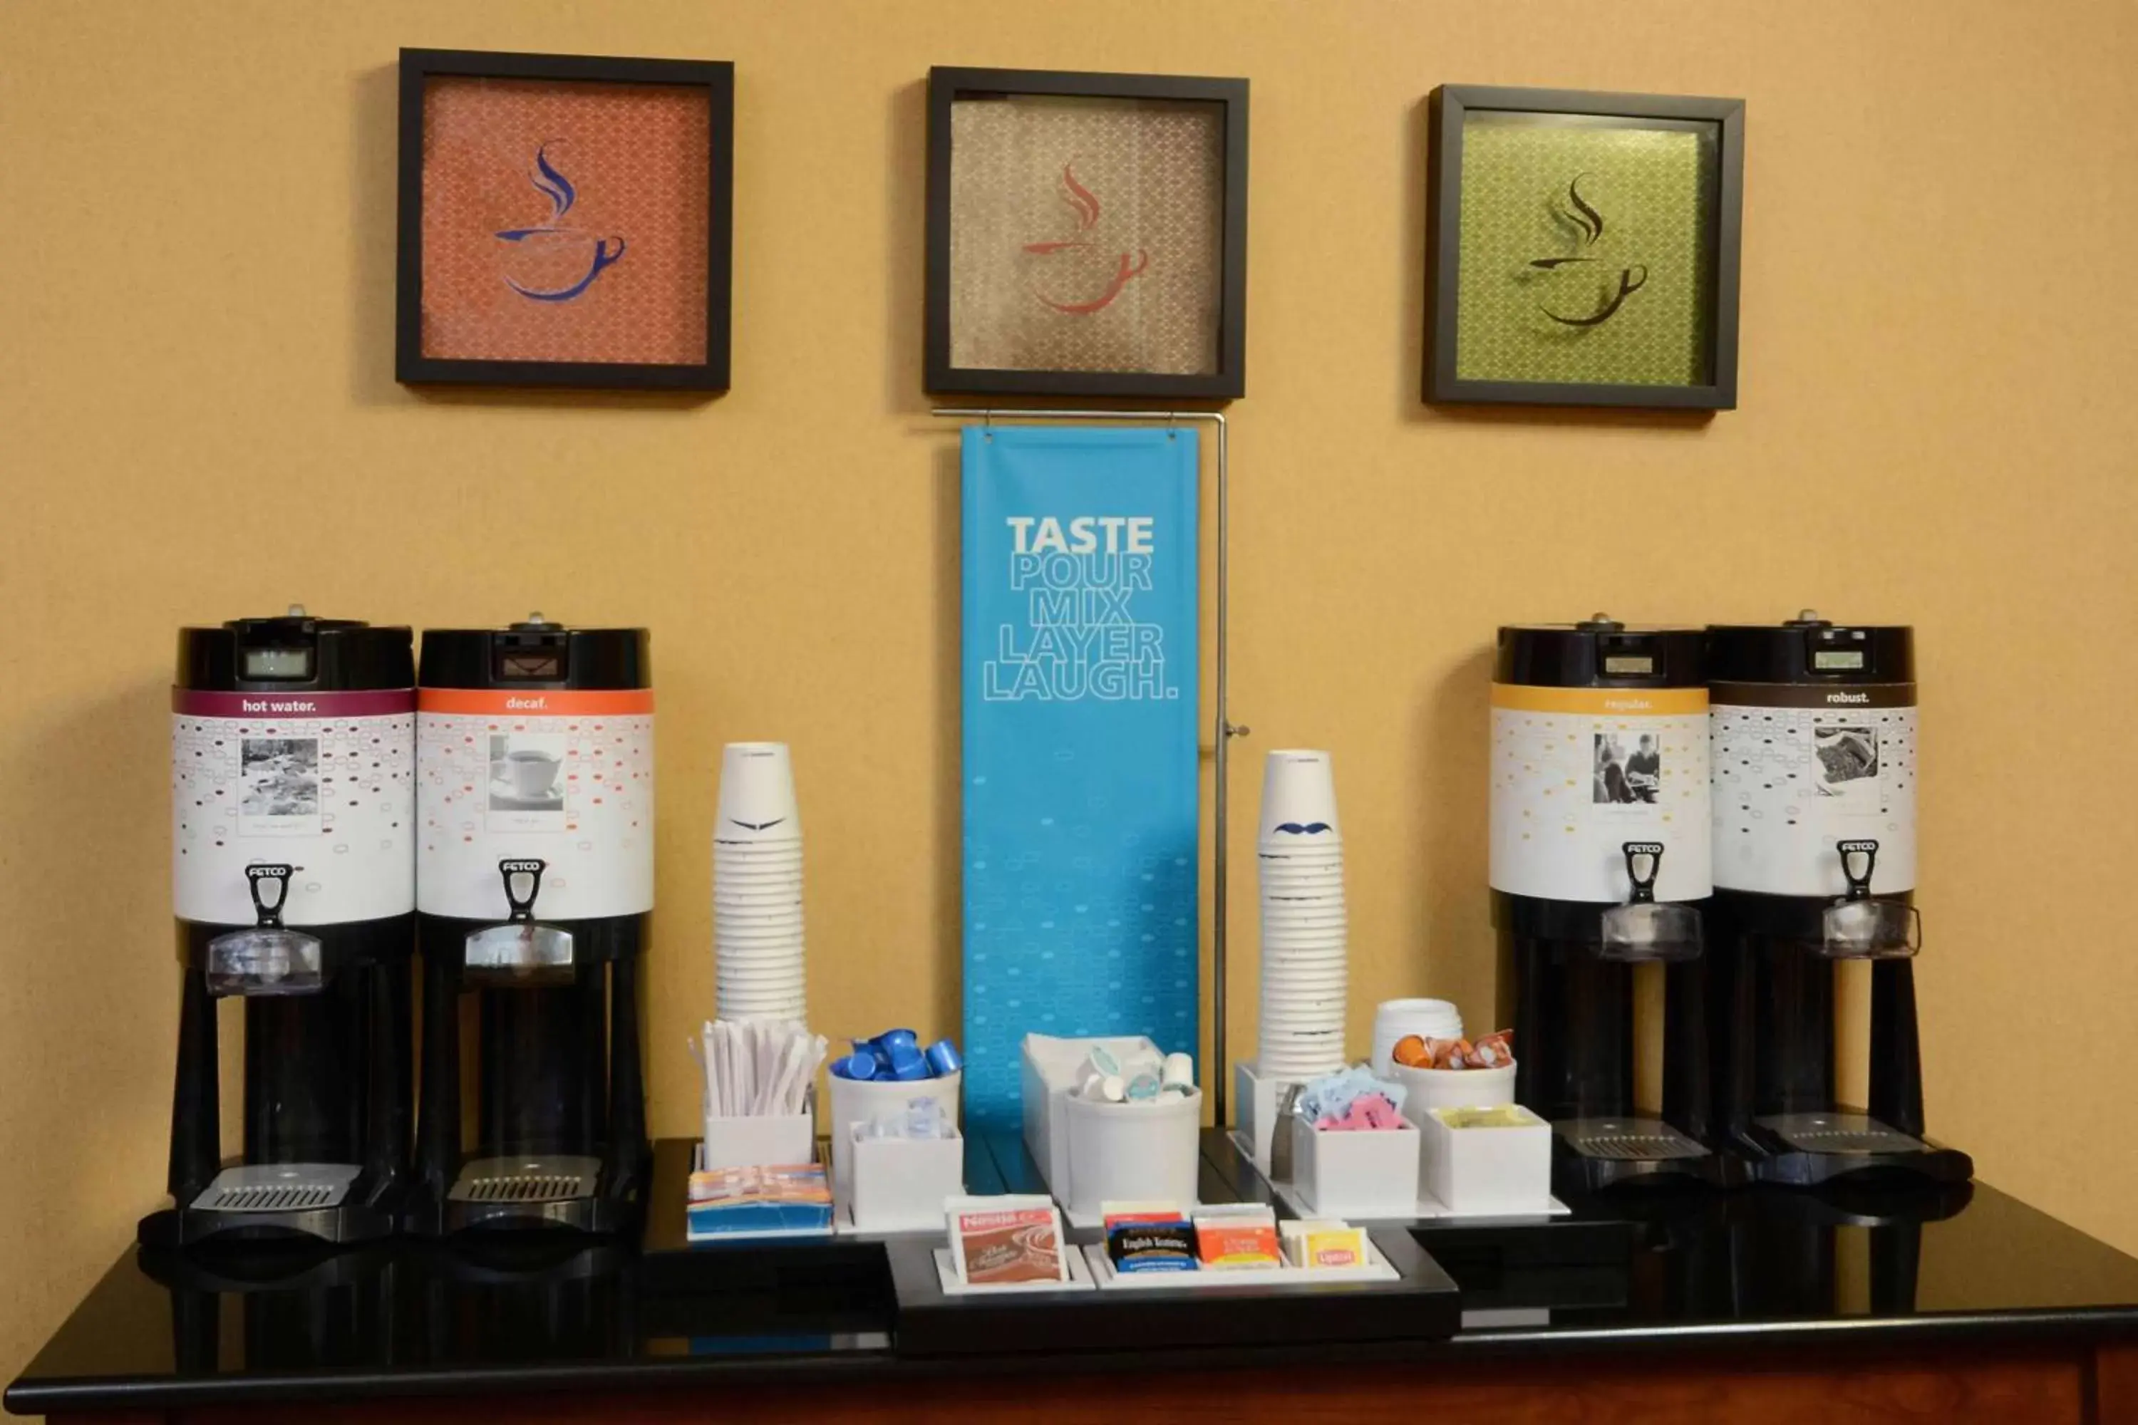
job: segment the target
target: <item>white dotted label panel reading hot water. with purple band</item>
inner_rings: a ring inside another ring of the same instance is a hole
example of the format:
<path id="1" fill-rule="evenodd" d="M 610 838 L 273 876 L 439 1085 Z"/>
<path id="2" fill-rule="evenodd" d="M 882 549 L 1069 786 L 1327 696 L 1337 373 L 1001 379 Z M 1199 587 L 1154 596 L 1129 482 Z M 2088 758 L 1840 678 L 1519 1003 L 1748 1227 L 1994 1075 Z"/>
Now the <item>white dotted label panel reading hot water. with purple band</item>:
<path id="1" fill-rule="evenodd" d="M 252 925 L 250 867 L 289 863 L 286 925 L 415 910 L 415 692 L 171 690 L 171 899 Z"/>

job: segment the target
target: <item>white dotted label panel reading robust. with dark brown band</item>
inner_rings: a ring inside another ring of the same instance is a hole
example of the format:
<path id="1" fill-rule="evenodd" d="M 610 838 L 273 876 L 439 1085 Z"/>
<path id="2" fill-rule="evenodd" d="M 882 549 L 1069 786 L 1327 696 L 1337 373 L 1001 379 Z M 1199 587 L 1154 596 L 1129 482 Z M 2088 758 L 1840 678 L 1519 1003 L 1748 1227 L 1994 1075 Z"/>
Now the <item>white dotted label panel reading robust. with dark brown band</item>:
<path id="1" fill-rule="evenodd" d="M 1916 889 L 1911 684 L 1721 684 L 1717 699 L 1717 887 L 1841 895 L 1841 844 L 1875 840 L 1871 891 Z"/>

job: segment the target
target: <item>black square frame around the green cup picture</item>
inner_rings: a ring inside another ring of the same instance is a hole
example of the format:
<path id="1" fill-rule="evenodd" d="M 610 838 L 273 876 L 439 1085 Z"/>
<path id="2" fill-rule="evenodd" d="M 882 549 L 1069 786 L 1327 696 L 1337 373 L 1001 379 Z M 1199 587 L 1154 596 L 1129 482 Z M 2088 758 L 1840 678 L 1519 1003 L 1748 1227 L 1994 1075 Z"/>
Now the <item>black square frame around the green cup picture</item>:
<path id="1" fill-rule="evenodd" d="M 1567 113 L 1715 124 L 1717 201 L 1706 235 L 1713 295 L 1706 385 L 1612 385 L 1465 380 L 1456 376 L 1456 316 L 1462 271 L 1462 122 L 1475 111 Z M 1745 100 L 1672 94 L 1591 94 L 1443 83 L 1428 100 L 1426 175 L 1426 361 L 1424 400 L 1516 406 L 1638 406 L 1734 410 L 1738 385 L 1738 261 L 1745 207 Z"/>

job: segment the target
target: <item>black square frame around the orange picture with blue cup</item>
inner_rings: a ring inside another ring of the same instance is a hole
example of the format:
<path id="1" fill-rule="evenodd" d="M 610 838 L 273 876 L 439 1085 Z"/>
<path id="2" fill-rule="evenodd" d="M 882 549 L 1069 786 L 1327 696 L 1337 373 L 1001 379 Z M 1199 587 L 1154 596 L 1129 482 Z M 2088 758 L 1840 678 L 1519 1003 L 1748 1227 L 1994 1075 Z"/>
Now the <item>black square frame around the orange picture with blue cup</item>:
<path id="1" fill-rule="evenodd" d="M 462 361 L 423 355 L 423 90 L 434 77 L 562 79 L 703 88 L 710 171 L 706 209 L 706 359 Z M 733 254 L 735 66 L 727 60 L 629 60 L 487 49 L 400 51 L 400 252 L 396 265 L 393 378 L 406 385 L 575 387 L 592 391 L 727 391 Z"/>

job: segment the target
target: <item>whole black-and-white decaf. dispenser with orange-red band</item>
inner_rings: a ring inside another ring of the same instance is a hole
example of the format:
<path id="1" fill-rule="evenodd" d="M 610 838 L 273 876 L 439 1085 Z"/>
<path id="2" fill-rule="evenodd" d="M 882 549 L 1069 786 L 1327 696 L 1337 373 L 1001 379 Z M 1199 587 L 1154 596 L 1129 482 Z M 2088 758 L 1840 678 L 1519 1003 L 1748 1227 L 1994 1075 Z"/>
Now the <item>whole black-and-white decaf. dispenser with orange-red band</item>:
<path id="1" fill-rule="evenodd" d="M 423 635 L 419 1233 L 605 1233 L 635 1220 L 652 714 L 644 628 L 562 628 L 534 613 Z"/>

